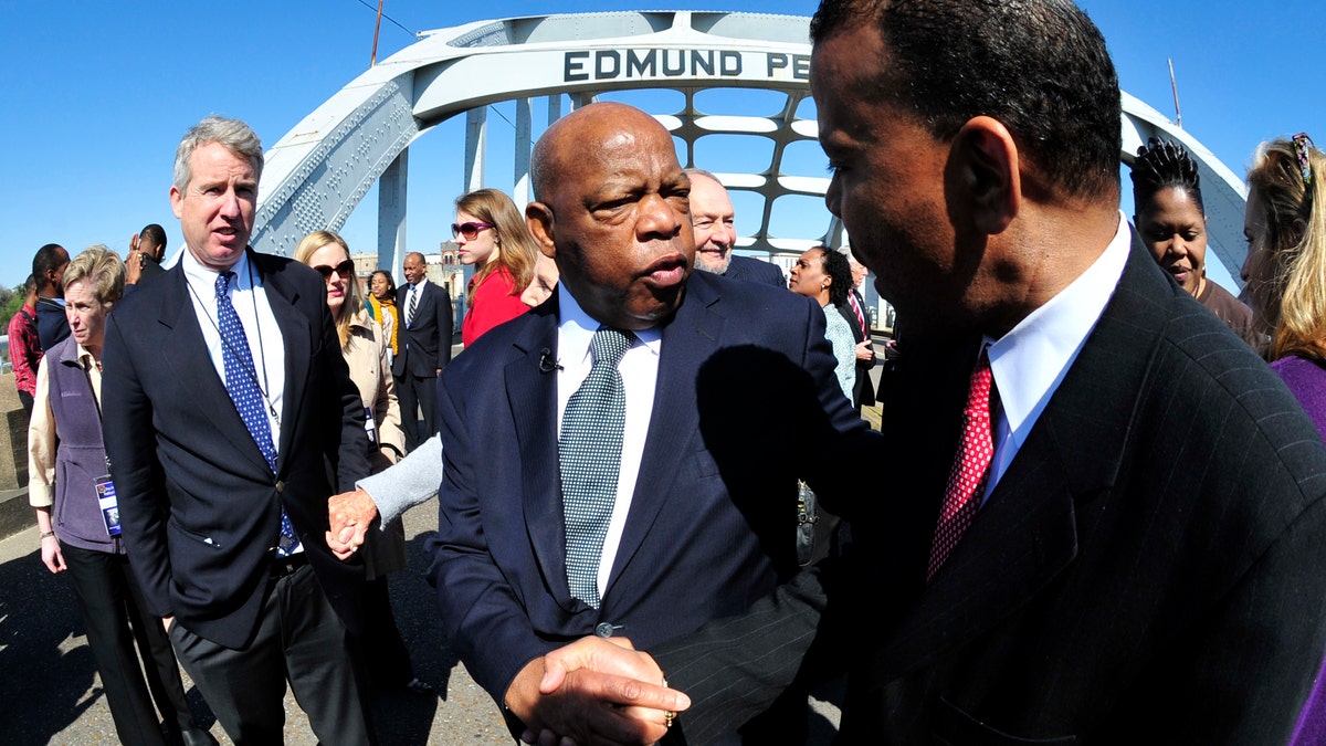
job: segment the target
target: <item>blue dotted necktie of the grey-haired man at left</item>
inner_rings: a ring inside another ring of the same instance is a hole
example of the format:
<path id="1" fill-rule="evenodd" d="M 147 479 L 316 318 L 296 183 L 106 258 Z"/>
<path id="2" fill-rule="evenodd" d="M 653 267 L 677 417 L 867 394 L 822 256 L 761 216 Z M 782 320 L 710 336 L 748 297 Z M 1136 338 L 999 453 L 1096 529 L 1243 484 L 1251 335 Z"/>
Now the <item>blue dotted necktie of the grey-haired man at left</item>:
<path id="1" fill-rule="evenodd" d="M 235 272 L 221 272 L 216 276 L 216 329 L 221 335 L 221 360 L 225 364 L 225 393 L 235 402 L 240 419 L 248 427 L 249 435 L 257 443 L 267 465 L 276 474 L 276 445 L 272 442 L 272 423 L 267 419 L 264 406 L 267 400 L 257 386 L 257 368 L 253 366 L 253 353 L 249 352 L 244 324 L 240 323 L 235 305 L 231 304 L 231 280 Z M 277 556 L 286 556 L 300 548 L 300 540 L 290 526 L 290 518 L 281 508 L 281 540 L 276 547 Z"/>

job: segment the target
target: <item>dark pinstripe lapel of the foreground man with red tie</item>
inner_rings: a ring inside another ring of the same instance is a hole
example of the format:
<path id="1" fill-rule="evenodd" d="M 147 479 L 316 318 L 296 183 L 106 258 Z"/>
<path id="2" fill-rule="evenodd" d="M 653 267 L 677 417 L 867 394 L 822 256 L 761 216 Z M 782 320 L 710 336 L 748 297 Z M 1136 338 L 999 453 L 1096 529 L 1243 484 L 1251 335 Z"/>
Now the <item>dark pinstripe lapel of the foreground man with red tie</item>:
<path id="1" fill-rule="evenodd" d="M 1138 319 L 1155 317 L 1138 304 L 1166 292 L 1139 251 L 1135 246 L 1114 297 L 989 500 L 888 636 L 876 661 L 884 680 L 980 637 L 1077 556 L 1079 512 L 1115 483 L 1136 382 L 1163 332 L 1138 327 Z"/>

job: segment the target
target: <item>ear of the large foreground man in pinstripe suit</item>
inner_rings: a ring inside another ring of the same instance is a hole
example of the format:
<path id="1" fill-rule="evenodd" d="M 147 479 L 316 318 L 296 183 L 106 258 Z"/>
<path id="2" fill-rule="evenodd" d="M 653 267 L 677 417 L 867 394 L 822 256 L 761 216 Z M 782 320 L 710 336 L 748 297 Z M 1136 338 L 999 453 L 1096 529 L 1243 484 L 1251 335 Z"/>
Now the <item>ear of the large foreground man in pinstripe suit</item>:
<path id="1" fill-rule="evenodd" d="M 1017 143 L 1008 127 L 991 117 L 975 117 L 953 138 L 952 159 L 957 196 L 972 227 L 987 235 L 1004 232 L 1022 203 Z"/>

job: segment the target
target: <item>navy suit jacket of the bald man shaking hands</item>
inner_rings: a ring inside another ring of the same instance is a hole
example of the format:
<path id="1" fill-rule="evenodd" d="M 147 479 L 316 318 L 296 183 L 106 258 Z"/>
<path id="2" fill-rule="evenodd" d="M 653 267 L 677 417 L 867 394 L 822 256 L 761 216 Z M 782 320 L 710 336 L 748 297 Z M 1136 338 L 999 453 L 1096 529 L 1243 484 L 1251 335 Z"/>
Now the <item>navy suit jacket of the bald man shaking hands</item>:
<path id="1" fill-rule="evenodd" d="M 526 662 L 597 625 L 647 645 L 745 609 L 796 572 L 797 477 L 839 488 L 862 457 L 835 437 L 878 442 L 837 388 L 813 303 L 693 272 L 663 331 L 631 510 L 590 608 L 566 583 L 557 374 L 544 362 L 557 309 L 554 297 L 488 332 L 442 377 L 430 579 L 451 645 L 499 702 Z"/>

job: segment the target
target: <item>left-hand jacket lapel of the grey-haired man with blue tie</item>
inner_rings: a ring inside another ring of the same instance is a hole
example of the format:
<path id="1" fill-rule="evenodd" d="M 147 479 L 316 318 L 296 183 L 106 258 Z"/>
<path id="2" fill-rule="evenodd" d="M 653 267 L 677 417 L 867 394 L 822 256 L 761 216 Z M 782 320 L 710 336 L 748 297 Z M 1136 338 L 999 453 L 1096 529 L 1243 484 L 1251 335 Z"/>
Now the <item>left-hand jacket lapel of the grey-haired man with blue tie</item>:
<path id="1" fill-rule="evenodd" d="M 200 324 L 212 324 L 215 320 L 199 319 L 194 308 L 194 301 L 188 296 L 188 280 L 183 268 L 176 264 L 167 276 L 156 280 L 162 283 L 162 313 L 159 323 L 166 327 L 166 342 L 163 349 L 183 350 L 182 354 L 164 356 L 171 370 L 180 380 L 183 390 L 200 402 L 194 411 L 216 429 L 217 434 L 235 446 L 239 454 L 248 459 L 255 469 L 271 471 L 267 458 L 253 442 L 253 435 L 240 418 L 231 394 L 225 390 L 225 384 L 216 373 L 216 366 L 207 352 L 207 341 L 203 338 Z M 155 291 L 154 291 L 155 292 Z M 219 459 L 224 461 L 224 459 Z"/>

